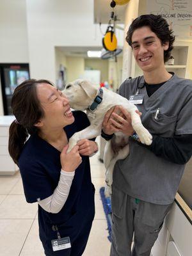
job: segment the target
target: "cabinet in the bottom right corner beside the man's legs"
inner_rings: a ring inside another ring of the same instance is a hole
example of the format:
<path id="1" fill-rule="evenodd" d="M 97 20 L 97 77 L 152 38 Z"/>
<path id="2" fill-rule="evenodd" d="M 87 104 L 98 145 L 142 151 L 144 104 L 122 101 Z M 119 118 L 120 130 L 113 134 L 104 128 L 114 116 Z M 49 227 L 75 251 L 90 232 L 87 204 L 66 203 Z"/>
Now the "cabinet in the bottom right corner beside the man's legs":
<path id="1" fill-rule="evenodd" d="M 191 209 L 177 193 L 172 209 L 166 216 L 163 228 L 152 248 L 152 256 L 191 255 L 191 216 Z"/>

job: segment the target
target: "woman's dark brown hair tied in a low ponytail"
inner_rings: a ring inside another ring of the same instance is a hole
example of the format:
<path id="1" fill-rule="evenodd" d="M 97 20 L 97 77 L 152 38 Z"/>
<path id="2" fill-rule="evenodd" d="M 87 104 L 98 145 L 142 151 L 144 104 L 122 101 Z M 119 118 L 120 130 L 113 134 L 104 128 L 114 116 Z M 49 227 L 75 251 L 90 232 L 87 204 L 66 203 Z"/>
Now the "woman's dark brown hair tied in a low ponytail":
<path id="1" fill-rule="evenodd" d="M 16 164 L 29 134 L 38 131 L 34 125 L 44 116 L 44 110 L 36 95 L 36 86 L 41 83 L 53 85 L 43 79 L 28 79 L 13 92 L 12 111 L 16 120 L 10 125 L 8 150 Z"/>

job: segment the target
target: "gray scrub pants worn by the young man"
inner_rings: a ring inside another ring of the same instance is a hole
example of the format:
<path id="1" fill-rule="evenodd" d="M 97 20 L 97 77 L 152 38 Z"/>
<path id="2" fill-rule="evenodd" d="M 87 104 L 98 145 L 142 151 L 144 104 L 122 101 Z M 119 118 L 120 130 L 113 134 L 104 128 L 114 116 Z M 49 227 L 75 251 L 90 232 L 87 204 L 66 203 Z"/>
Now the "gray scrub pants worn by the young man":
<path id="1" fill-rule="evenodd" d="M 129 195 L 113 186 L 112 243 L 110 256 L 150 256 L 163 220 L 172 204 L 151 204 Z M 131 243 L 134 233 L 134 246 Z"/>

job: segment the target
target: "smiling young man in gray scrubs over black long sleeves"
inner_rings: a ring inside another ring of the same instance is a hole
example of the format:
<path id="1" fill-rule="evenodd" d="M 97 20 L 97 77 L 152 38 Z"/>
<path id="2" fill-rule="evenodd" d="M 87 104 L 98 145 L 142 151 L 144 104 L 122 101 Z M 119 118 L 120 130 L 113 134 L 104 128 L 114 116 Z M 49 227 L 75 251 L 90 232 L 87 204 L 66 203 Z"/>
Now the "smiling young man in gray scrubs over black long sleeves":
<path id="1" fill-rule="evenodd" d="M 153 141 L 150 146 L 140 143 L 126 109 L 115 107 L 106 114 L 103 138 L 110 140 L 116 131 L 130 136 L 129 156 L 113 172 L 111 256 L 149 256 L 191 157 L 192 81 L 164 67 L 175 37 L 160 15 L 135 19 L 126 40 L 143 76 L 125 80 L 119 93 L 138 100 Z"/>

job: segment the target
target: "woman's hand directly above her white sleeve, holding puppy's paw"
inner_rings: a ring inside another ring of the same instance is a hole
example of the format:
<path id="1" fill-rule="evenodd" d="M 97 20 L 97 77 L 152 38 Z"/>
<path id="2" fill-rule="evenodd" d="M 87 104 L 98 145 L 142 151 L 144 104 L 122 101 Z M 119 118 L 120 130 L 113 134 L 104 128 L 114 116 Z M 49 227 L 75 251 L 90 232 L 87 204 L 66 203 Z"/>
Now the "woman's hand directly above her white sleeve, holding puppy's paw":
<path id="1" fill-rule="evenodd" d="M 81 164 L 82 159 L 79 155 L 79 146 L 75 146 L 67 153 L 68 145 L 66 145 L 60 155 L 61 168 L 65 172 L 74 172 L 79 164 Z"/>

